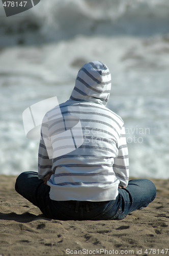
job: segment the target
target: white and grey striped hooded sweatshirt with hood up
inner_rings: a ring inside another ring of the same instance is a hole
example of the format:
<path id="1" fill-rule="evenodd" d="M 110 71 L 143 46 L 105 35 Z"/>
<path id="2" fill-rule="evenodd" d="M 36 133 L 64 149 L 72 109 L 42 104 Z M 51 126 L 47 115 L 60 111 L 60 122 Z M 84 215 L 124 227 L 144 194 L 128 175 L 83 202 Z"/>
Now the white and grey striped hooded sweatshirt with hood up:
<path id="1" fill-rule="evenodd" d="M 115 200 L 119 184 L 127 186 L 124 122 L 106 108 L 110 88 L 108 68 L 100 61 L 86 63 L 77 74 L 70 99 L 46 113 L 38 173 L 44 179 L 52 172 L 47 182 L 52 200 Z M 66 120 L 71 120 L 68 125 Z"/>

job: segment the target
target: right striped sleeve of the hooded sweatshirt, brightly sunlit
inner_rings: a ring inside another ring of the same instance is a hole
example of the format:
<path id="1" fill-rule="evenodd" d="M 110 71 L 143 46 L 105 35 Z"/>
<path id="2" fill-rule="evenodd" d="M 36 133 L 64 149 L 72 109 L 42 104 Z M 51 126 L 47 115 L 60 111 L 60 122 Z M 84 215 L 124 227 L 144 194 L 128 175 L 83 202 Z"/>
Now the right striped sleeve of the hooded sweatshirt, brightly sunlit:
<path id="1" fill-rule="evenodd" d="M 121 130 L 118 156 L 115 158 L 113 169 L 116 177 L 120 180 L 120 185 L 126 187 L 129 179 L 129 158 L 124 126 Z"/>

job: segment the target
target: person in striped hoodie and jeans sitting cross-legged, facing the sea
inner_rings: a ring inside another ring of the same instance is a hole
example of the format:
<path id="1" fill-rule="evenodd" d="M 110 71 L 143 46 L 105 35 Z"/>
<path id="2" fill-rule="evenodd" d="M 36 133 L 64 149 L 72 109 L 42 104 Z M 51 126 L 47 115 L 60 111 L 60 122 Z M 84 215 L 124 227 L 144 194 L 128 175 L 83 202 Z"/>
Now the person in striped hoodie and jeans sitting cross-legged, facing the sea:
<path id="1" fill-rule="evenodd" d="M 148 206 L 156 196 L 150 180 L 129 181 L 124 122 L 106 108 L 110 89 L 106 65 L 100 61 L 86 63 L 77 74 L 69 100 L 45 115 L 38 173 L 20 174 L 15 189 L 47 218 L 122 220 L 131 211 Z M 79 133 L 73 134 L 77 124 Z M 64 136 L 54 142 L 60 128 L 69 133 L 72 150 Z M 62 153 L 58 153 L 59 148 Z"/>

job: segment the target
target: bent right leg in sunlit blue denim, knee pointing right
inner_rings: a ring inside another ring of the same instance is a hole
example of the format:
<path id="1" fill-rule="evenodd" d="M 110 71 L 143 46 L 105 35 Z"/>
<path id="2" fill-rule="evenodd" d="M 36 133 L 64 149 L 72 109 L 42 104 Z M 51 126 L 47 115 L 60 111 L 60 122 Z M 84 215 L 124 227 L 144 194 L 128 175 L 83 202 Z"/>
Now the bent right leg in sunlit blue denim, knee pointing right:
<path id="1" fill-rule="evenodd" d="M 147 179 L 130 180 L 126 188 L 119 189 L 119 194 L 122 202 L 117 219 L 124 219 L 131 211 L 147 207 L 156 196 L 156 187 Z"/>

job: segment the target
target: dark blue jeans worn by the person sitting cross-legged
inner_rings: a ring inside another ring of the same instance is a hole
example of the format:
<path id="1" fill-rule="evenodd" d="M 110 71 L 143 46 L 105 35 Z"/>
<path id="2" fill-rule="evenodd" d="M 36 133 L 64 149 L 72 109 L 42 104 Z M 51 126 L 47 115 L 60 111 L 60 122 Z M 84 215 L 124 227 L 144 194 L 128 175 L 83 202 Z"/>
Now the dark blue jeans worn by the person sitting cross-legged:
<path id="1" fill-rule="evenodd" d="M 126 188 L 119 189 L 115 200 L 103 202 L 53 201 L 50 187 L 38 179 L 38 173 L 24 172 L 15 184 L 16 191 L 38 206 L 45 217 L 57 220 L 122 220 L 131 211 L 144 208 L 156 196 L 150 180 L 130 180 Z"/>

